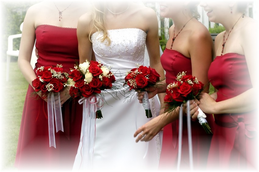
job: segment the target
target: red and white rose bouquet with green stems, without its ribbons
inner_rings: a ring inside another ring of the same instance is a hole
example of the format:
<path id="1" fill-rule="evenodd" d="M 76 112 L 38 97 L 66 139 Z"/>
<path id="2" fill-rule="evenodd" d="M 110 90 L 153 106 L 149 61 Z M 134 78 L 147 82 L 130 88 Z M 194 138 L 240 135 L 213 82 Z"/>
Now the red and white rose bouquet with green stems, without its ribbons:
<path id="1" fill-rule="evenodd" d="M 70 86 L 69 94 L 71 97 L 90 98 L 90 101 L 98 103 L 98 107 L 102 107 L 102 98 L 97 96 L 101 90 L 111 89 L 115 77 L 110 71 L 111 66 L 106 67 L 99 61 L 87 61 L 75 65 L 69 73 L 69 79 L 66 83 Z M 101 110 L 96 111 L 96 118 L 102 118 Z"/>

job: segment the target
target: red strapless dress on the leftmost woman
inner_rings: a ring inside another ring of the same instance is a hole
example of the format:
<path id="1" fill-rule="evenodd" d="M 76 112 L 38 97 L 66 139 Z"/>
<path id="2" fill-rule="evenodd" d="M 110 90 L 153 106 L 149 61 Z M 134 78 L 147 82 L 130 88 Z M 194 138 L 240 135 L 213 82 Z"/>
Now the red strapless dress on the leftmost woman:
<path id="1" fill-rule="evenodd" d="M 35 68 L 62 64 L 69 72 L 79 62 L 76 28 L 40 25 L 35 30 L 39 58 Z M 34 53 L 34 52 L 33 52 Z M 25 97 L 15 167 L 19 169 L 72 169 L 77 153 L 83 107 L 77 99 L 62 106 L 64 132 L 55 132 L 56 148 L 49 147 L 47 102 L 32 97 L 29 85 Z"/>

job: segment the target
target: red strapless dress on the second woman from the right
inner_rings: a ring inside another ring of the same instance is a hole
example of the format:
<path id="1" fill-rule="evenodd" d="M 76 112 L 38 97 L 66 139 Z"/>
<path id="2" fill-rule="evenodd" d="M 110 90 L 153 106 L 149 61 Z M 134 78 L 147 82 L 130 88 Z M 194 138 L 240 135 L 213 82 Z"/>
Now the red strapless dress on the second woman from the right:
<path id="1" fill-rule="evenodd" d="M 185 57 L 176 50 L 165 49 L 161 56 L 161 64 L 165 69 L 165 82 L 170 84 L 176 82 L 179 72 L 192 74 L 191 59 Z M 213 129 L 213 116 L 207 115 L 207 121 Z M 191 121 L 192 146 L 193 146 L 193 167 L 196 169 L 206 168 L 208 151 L 211 142 L 211 135 L 206 134 L 198 120 Z M 164 127 L 162 150 L 159 161 L 159 169 L 176 170 L 178 160 L 178 139 L 179 139 L 179 120 L 176 120 Z M 181 170 L 190 170 L 189 147 L 187 133 L 187 118 L 183 116 L 183 139 L 181 154 Z"/>

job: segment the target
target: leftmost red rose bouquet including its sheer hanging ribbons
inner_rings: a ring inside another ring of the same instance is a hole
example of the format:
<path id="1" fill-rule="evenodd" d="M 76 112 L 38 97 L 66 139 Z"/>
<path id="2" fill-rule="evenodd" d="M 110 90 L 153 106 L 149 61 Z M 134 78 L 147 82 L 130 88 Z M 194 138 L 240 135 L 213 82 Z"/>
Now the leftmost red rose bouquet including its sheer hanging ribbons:
<path id="1" fill-rule="evenodd" d="M 63 72 L 62 65 L 41 66 L 35 71 L 36 79 L 32 81 L 35 93 L 41 94 L 42 98 L 48 98 L 48 124 L 49 124 L 49 144 L 55 144 L 54 135 L 54 114 L 56 122 L 56 132 L 64 131 L 62 122 L 62 112 L 59 92 L 65 88 L 68 73 Z"/>

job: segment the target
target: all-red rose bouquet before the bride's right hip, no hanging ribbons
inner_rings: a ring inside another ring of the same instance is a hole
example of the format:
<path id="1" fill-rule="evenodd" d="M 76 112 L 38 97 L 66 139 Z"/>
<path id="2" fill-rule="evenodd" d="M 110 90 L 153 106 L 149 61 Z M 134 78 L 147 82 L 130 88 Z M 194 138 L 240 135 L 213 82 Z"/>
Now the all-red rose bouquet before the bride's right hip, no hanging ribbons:
<path id="1" fill-rule="evenodd" d="M 151 118 L 152 114 L 145 88 L 154 86 L 159 81 L 159 77 L 160 75 L 155 69 L 136 64 L 136 68 L 127 71 L 126 77 L 124 78 L 124 85 L 128 85 L 130 90 L 140 90 L 145 93 L 142 99 L 142 105 L 146 111 L 147 118 Z"/>

